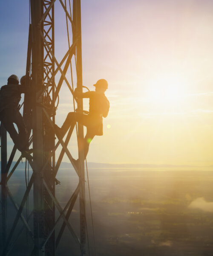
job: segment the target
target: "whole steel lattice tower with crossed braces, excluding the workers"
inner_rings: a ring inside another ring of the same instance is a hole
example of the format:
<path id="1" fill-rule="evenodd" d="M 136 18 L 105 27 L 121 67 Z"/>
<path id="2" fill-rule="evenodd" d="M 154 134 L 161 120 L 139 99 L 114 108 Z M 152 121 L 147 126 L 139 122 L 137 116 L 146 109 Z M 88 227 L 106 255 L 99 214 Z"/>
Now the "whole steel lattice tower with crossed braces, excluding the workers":
<path id="1" fill-rule="evenodd" d="M 59 62 L 55 57 L 55 32 L 54 32 L 54 4 L 58 2 L 65 12 L 67 23 L 72 26 L 72 44 Z M 33 148 L 32 154 L 20 153 L 20 157 L 13 168 L 12 161 L 17 152 L 13 147 L 9 160 L 7 161 L 6 130 L 1 125 L 1 201 L 2 201 L 2 255 L 9 255 L 12 247 L 12 238 L 17 228 L 17 222 L 23 222 L 25 228 L 32 238 L 33 248 L 29 255 L 54 256 L 60 243 L 65 227 L 79 244 L 79 255 L 86 255 L 86 213 L 85 213 L 85 180 L 84 180 L 84 156 L 81 141 L 83 140 L 83 125 L 78 125 L 78 157 L 79 166 L 75 166 L 73 157 L 67 145 L 74 126 L 71 126 L 63 141 L 55 131 L 56 99 L 65 81 L 73 94 L 70 77 L 67 75 L 68 68 L 72 65 L 71 60 L 75 58 L 76 63 L 76 86 L 82 91 L 82 55 L 81 55 L 81 0 L 72 1 L 72 15 L 70 3 L 66 0 L 30 0 L 31 24 L 29 26 L 28 51 L 26 61 L 26 84 L 29 91 L 25 93 L 23 103 L 23 118 L 26 122 L 29 145 Z M 58 83 L 55 76 L 60 74 Z M 73 81 L 72 81 L 73 84 Z M 71 94 L 71 96 L 72 96 Z M 78 100 L 78 111 L 83 111 L 83 99 Z M 56 140 L 55 140 L 56 138 Z M 61 145 L 58 159 L 55 151 Z M 55 177 L 62 162 L 64 154 L 72 163 L 77 175 L 78 186 L 70 197 L 65 208 L 62 208 L 55 197 Z M 20 205 L 18 205 L 7 185 L 8 180 L 16 171 L 23 157 L 32 168 L 32 176 L 26 187 Z M 29 192 L 33 188 L 33 209 L 26 217 L 23 209 L 28 200 Z M 77 236 L 69 223 L 69 216 L 74 204 L 80 199 L 80 237 Z M 12 227 L 7 231 L 7 200 L 11 200 L 16 211 Z M 59 217 L 56 219 L 55 210 Z M 65 214 L 66 212 L 66 214 Z M 33 218 L 33 228 L 29 220 Z M 55 227 L 63 219 L 58 236 Z"/>

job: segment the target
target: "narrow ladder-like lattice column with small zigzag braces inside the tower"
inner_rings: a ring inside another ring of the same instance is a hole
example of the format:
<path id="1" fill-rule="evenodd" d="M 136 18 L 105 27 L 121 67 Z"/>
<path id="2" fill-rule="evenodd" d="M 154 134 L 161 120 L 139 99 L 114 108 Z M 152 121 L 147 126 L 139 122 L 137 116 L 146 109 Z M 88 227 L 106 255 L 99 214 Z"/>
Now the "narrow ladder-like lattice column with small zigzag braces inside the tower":
<path id="1" fill-rule="evenodd" d="M 43 1 L 43 12 L 45 12 L 53 0 Z M 54 38 L 54 4 L 48 12 L 48 15 L 43 20 L 43 36 L 50 47 L 52 53 L 55 53 L 55 38 Z M 44 85 L 49 82 L 55 72 L 55 61 L 52 55 L 49 52 L 49 48 L 46 45 L 46 42 L 43 41 L 43 81 Z M 51 99 L 51 89 L 52 89 L 52 99 Z M 52 118 L 52 122 L 55 124 L 55 77 L 53 77 L 49 87 L 47 88 L 44 96 L 44 106 L 46 111 L 49 114 L 49 117 Z M 44 180 L 52 192 L 52 195 L 55 196 L 55 152 L 52 154 L 51 150 L 55 146 L 55 133 L 45 115 L 43 115 L 43 150 L 44 150 L 44 159 L 49 159 L 46 168 L 44 169 Z M 50 157 L 52 154 L 52 157 Z M 55 204 L 49 195 L 47 189 L 44 188 L 44 219 L 45 219 L 45 238 L 49 235 L 49 232 L 55 225 Z M 45 255 L 46 256 L 55 256 L 55 231 L 52 232 L 49 240 L 45 245 Z"/>

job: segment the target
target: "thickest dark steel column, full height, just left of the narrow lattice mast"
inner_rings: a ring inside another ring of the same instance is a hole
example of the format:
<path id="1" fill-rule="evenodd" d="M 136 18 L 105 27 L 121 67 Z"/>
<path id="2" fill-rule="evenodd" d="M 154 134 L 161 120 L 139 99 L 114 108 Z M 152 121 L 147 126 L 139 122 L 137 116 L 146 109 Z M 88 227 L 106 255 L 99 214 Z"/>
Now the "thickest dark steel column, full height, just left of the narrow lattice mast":
<path id="1" fill-rule="evenodd" d="M 40 35 L 40 21 L 43 13 L 43 1 L 31 0 L 32 17 L 32 131 L 33 131 L 33 163 L 35 165 L 35 181 L 33 183 L 34 198 L 34 255 L 41 256 L 44 252 L 39 250 L 44 239 L 44 200 L 43 200 L 43 96 L 37 98 L 43 87 L 43 44 Z"/>

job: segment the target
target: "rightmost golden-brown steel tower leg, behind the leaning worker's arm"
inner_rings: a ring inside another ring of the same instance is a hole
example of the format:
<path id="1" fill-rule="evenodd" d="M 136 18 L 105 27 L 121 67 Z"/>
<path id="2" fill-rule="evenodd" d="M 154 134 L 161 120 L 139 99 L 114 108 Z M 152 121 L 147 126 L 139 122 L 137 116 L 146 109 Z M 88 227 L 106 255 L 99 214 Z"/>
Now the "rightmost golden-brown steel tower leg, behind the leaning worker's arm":
<path id="1" fill-rule="evenodd" d="M 76 45 L 77 62 L 77 88 L 82 92 L 82 52 L 81 52 L 81 0 L 73 0 L 73 19 L 75 33 L 78 37 Z M 78 100 L 78 110 L 83 111 L 83 99 Z M 81 256 L 86 255 L 86 216 L 85 216 L 85 173 L 84 173 L 84 148 L 83 125 L 78 124 L 78 159 L 80 162 L 80 232 L 81 232 Z"/>

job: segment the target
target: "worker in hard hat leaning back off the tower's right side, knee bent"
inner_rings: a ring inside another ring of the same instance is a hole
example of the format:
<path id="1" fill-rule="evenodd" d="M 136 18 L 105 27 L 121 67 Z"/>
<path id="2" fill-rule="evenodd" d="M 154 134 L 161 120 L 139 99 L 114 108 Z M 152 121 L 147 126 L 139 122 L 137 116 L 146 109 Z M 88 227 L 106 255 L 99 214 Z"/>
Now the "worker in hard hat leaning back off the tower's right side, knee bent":
<path id="1" fill-rule="evenodd" d="M 107 117 L 109 112 L 109 101 L 104 94 L 108 88 L 107 81 L 100 79 L 94 86 L 95 91 L 81 93 L 76 88 L 74 92 L 77 100 L 78 98 L 89 98 L 89 114 L 78 113 L 78 111 L 69 112 L 61 128 L 55 125 L 56 131 L 61 136 L 64 136 L 69 127 L 75 122 L 86 126 L 86 136 L 83 140 L 84 159 L 89 151 L 89 143 L 95 135 L 103 135 L 103 117 Z M 75 160 L 75 164 L 78 166 L 78 160 Z"/>

